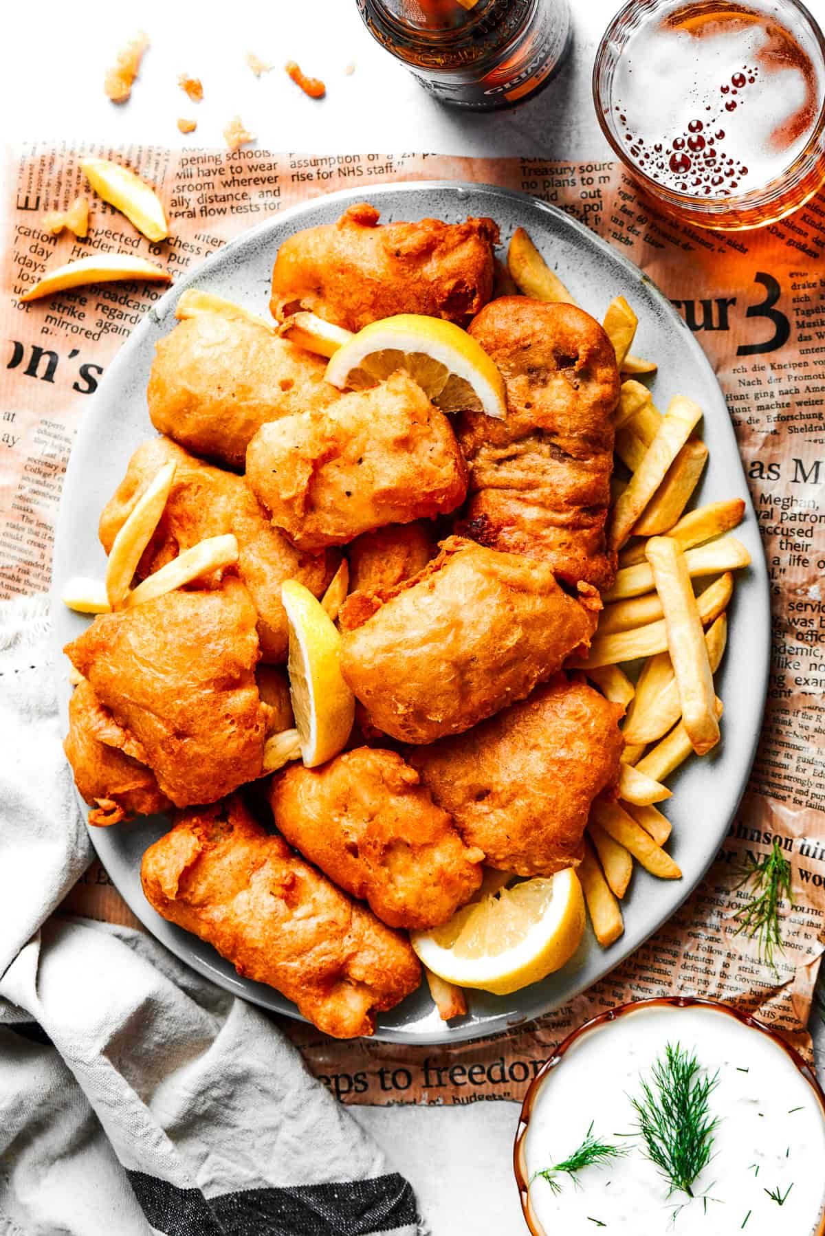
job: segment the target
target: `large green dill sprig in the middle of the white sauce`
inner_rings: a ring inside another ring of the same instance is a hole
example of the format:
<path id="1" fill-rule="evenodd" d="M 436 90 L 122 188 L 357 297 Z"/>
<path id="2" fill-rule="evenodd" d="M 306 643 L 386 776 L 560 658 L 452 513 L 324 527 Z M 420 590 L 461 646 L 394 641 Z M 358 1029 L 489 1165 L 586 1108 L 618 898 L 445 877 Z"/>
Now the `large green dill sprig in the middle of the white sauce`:
<path id="1" fill-rule="evenodd" d="M 719 1073 L 700 1074 L 695 1056 L 680 1043 L 667 1043 L 652 1080 L 642 1082 L 642 1096 L 631 1098 L 644 1153 L 668 1182 L 668 1196 L 680 1192 L 693 1198 L 693 1184 L 711 1158 L 719 1119 L 711 1115 L 709 1099 Z"/>

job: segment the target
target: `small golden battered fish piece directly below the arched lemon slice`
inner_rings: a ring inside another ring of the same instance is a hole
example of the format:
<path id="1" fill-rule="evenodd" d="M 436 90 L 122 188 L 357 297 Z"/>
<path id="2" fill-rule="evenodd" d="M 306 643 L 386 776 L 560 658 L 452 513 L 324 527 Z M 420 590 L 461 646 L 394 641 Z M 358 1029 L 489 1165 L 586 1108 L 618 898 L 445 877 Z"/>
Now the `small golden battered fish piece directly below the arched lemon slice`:
<path id="1" fill-rule="evenodd" d="M 262 425 L 246 451 L 246 481 L 303 550 L 455 510 L 466 466 L 453 428 L 401 370 L 323 413 Z"/>

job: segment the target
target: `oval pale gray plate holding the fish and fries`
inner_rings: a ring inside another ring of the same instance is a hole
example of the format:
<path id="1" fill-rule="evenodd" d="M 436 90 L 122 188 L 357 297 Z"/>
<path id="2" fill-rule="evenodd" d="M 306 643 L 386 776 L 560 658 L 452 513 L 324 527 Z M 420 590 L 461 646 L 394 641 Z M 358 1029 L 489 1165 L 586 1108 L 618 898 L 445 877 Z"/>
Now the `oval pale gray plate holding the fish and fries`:
<path id="1" fill-rule="evenodd" d="M 543 983 L 511 996 L 469 993 L 468 1016 L 449 1027 L 439 1020 L 428 993 L 419 990 L 382 1016 L 376 1032 L 376 1038 L 391 1042 L 456 1042 L 507 1030 L 569 1001 L 638 948 L 696 886 L 733 817 L 756 749 L 768 674 L 768 580 L 725 399 L 699 344 L 651 281 L 581 224 L 524 194 L 453 182 L 381 185 L 369 193 L 359 188 L 317 198 L 239 236 L 176 283 L 124 344 L 83 418 L 63 487 L 53 575 L 58 649 L 88 622 L 59 603 L 61 588 L 73 575 L 103 578 L 105 556 L 98 543 L 98 517 L 131 452 L 155 433 L 146 410 L 146 383 L 155 344 L 174 325 L 181 292 L 208 289 L 267 315 L 270 276 L 281 242 L 302 227 L 334 221 L 348 205 L 365 198 L 380 208 L 383 221 L 424 216 L 459 221 L 468 215 L 490 215 L 501 227 L 503 246 L 515 227 L 526 227 L 579 303 L 600 320 L 612 297 L 627 297 L 639 319 L 633 350 L 659 363 L 652 383 L 659 407 L 667 407 L 674 394 L 686 394 L 704 408 L 710 460 L 696 499 L 745 499 L 746 518 L 736 535 L 753 557 L 752 567 L 740 572 L 731 606 L 730 648 L 719 674 L 719 693 L 726 703 L 724 742 L 715 755 L 689 760 L 674 776 L 674 795 L 665 806 L 674 826 L 668 848 L 684 879 L 657 880 L 637 864 L 623 902 L 625 934 L 611 948 L 600 948 L 588 929 L 576 955 Z M 62 679 L 64 723 L 68 695 L 68 682 Z M 139 874 L 141 855 L 167 829 L 165 817 L 151 817 L 115 828 L 90 828 L 90 834 L 121 896 L 157 939 L 220 986 L 297 1017 L 294 1006 L 277 991 L 239 978 L 213 948 L 167 923 L 146 902 Z"/>

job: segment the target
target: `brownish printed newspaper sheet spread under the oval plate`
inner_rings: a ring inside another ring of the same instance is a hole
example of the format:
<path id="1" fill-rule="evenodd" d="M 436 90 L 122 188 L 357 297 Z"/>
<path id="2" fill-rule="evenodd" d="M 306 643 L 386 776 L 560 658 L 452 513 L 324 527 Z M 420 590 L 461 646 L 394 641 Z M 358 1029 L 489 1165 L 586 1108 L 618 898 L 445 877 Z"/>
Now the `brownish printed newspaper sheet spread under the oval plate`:
<path id="1" fill-rule="evenodd" d="M 95 201 L 88 240 L 42 229 L 46 210 L 82 188 L 78 159 L 94 153 L 162 189 L 172 237 L 152 245 Z M 251 224 L 297 201 L 355 184 L 455 178 L 497 183 L 550 201 L 631 257 L 696 332 L 725 391 L 750 478 L 773 595 L 769 700 L 742 806 L 704 883 L 618 969 L 549 1016 L 448 1048 L 335 1042 L 282 1018 L 309 1068 L 348 1103 L 463 1104 L 519 1099 L 554 1044 L 576 1023 L 643 996 L 729 1000 L 780 1028 L 803 1052 L 825 942 L 825 197 L 758 232 L 679 225 L 613 162 L 469 159 L 433 154 L 272 154 L 32 146 L 7 153 L 2 231 L 5 360 L 0 370 L 0 597 L 49 581 L 61 483 L 89 396 L 156 287 L 110 283 L 21 305 L 47 267 L 94 250 L 140 253 L 173 276 Z M 124 460 L 124 465 L 125 465 Z M 756 942 L 733 938 L 731 915 L 748 855 L 778 837 L 792 863 L 777 970 Z M 134 922 L 94 865 L 68 908 Z"/>

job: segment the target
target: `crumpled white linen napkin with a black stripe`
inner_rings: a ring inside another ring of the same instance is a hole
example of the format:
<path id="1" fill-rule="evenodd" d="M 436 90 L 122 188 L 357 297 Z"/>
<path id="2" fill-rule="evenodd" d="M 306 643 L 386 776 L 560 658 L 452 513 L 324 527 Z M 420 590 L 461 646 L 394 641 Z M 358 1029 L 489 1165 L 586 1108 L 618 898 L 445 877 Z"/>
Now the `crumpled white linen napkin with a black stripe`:
<path id="1" fill-rule="evenodd" d="M 409 1183 L 266 1018 L 126 927 L 92 859 L 46 597 L 0 603 L 0 1236 L 424 1236 Z"/>

